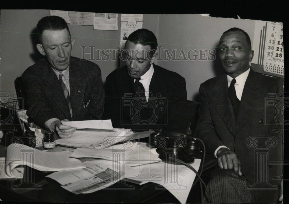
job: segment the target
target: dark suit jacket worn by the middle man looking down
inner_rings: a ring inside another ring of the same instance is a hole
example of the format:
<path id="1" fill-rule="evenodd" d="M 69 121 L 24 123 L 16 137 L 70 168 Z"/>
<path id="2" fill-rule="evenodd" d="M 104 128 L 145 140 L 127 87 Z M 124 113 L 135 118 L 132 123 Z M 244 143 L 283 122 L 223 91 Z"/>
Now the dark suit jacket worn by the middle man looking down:
<path id="1" fill-rule="evenodd" d="M 127 67 L 123 66 L 114 70 L 106 78 L 106 95 L 104 118 L 112 119 L 114 127 L 125 128 L 166 128 L 177 131 L 185 131 L 186 128 L 186 81 L 179 74 L 168 71 L 158 65 L 153 64 L 154 72 L 149 85 L 148 103 L 157 103 L 155 109 L 157 120 L 149 123 L 138 123 L 132 121 L 134 117 L 133 107 L 136 101 L 125 94 L 134 93 L 134 79 L 127 73 Z M 161 94 L 161 95 L 158 95 Z M 131 105 L 127 105 L 133 101 Z M 165 102 L 164 104 L 162 102 Z"/>

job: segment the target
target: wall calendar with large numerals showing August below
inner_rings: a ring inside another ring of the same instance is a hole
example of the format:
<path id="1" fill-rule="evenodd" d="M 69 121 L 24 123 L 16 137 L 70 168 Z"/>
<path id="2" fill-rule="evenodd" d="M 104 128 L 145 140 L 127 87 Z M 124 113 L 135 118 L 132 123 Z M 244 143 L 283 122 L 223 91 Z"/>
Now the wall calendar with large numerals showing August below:
<path id="1" fill-rule="evenodd" d="M 267 75 L 284 77 L 283 24 L 256 21 L 252 69 Z"/>

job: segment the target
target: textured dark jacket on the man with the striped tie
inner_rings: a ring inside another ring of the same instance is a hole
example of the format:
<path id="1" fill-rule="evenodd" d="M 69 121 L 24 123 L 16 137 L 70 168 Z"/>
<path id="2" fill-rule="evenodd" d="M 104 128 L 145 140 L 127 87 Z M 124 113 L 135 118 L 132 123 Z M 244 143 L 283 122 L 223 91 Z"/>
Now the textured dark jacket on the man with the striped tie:
<path id="1" fill-rule="evenodd" d="M 46 59 L 28 67 L 22 75 L 27 93 L 27 115 L 35 124 L 45 127 L 50 118 L 71 120 L 59 80 Z M 71 57 L 69 65 L 71 108 L 74 120 L 101 119 L 104 89 L 99 66 Z M 88 101 L 90 101 L 88 103 Z M 83 103 L 88 103 L 83 107 Z"/>

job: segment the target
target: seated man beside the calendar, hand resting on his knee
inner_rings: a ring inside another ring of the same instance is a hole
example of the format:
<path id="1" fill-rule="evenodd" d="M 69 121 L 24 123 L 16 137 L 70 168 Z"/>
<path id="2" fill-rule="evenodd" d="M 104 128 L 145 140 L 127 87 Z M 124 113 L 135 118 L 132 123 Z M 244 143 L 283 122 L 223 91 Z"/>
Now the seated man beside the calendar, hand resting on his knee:
<path id="1" fill-rule="evenodd" d="M 277 186 L 283 182 L 270 179 L 280 179 L 282 166 L 268 161 L 281 162 L 283 133 L 274 115 L 280 110 L 265 101 L 268 94 L 275 94 L 270 99 L 273 104 L 278 100 L 283 79 L 255 73 L 249 67 L 254 51 L 249 35 L 241 29 L 224 32 L 219 49 L 225 74 L 201 84 L 194 132 L 218 161 L 206 189 L 206 201 L 276 203 Z"/>

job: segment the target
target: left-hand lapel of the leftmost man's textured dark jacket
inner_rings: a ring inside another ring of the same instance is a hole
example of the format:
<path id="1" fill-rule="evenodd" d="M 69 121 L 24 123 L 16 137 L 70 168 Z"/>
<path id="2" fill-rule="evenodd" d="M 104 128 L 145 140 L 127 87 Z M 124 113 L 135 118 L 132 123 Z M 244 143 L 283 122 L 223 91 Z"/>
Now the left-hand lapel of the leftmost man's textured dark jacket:
<path id="1" fill-rule="evenodd" d="M 58 105 L 66 118 L 71 119 L 69 108 L 59 80 L 48 63 L 43 68 L 43 81 L 45 83 L 46 91 L 52 100 Z"/>

